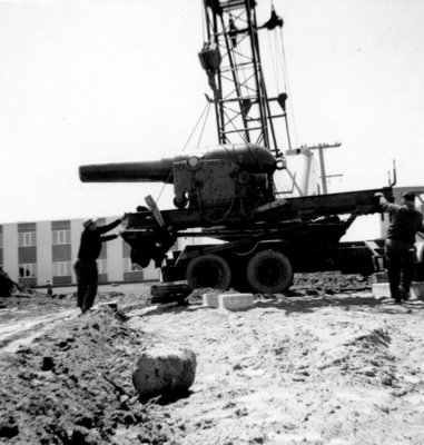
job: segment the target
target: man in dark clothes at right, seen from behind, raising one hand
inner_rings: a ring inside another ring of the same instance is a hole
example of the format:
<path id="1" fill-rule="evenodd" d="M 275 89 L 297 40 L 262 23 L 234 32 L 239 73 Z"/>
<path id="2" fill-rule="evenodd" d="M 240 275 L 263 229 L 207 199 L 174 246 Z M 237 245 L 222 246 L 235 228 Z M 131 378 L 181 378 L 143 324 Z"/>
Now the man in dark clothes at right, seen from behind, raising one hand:
<path id="1" fill-rule="evenodd" d="M 384 212 L 390 215 L 384 245 L 391 297 L 396 304 L 410 298 L 411 283 L 417 263 L 415 236 L 423 230 L 423 214 L 415 208 L 415 194 L 404 191 L 402 204 L 391 204 L 383 194 L 375 194 Z"/>

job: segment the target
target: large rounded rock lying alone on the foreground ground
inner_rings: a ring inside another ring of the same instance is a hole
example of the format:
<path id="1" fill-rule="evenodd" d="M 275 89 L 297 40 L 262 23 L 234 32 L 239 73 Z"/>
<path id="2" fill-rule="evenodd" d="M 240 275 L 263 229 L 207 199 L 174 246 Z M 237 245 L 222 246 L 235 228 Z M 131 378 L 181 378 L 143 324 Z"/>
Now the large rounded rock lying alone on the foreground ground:
<path id="1" fill-rule="evenodd" d="M 189 349 L 159 347 L 146 350 L 136 362 L 132 384 L 144 399 L 176 397 L 195 382 L 196 355 Z"/>

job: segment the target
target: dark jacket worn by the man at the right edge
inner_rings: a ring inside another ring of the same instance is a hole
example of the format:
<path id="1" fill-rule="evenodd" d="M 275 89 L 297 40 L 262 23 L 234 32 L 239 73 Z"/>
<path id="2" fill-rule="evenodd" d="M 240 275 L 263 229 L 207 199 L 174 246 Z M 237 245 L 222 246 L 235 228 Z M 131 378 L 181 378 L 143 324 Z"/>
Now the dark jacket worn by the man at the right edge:
<path id="1" fill-rule="evenodd" d="M 387 238 L 414 244 L 416 233 L 423 228 L 423 214 L 413 204 L 384 202 L 382 207 L 390 214 Z"/>

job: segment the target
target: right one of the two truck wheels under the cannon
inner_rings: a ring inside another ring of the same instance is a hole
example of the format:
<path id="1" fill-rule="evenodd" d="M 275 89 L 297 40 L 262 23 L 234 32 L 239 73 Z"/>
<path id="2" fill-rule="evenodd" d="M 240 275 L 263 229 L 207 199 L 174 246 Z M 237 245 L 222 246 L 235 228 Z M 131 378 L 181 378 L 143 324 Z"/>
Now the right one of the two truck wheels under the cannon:
<path id="1" fill-rule="evenodd" d="M 293 281 L 293 267 L 280 251 L 260 250 L 247 264 L 246 278 L 253 290 L 264 294 L 280 293 Z"/>

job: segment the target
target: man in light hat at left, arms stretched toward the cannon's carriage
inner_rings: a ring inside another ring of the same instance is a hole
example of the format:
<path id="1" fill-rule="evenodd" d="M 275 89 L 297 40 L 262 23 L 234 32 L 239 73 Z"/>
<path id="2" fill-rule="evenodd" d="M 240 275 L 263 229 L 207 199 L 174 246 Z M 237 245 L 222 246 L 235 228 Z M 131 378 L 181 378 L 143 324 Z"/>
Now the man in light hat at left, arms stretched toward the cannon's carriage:
<path id="1" fill-rule="evenodd" d="M 98 285 L 97 259 L 100 255 L 101 244 L 115 239 L 118 235 L 101 236 L 119 226 L 127 215 L 106 226 L 98 226 L 97 219 L 86 219 L 82 222 L 83 231 L 78 251 L 78 259 L 73 265 L 78 283 L 78 307 L 81 314 L 87 313 L 93 305 Z"/>

